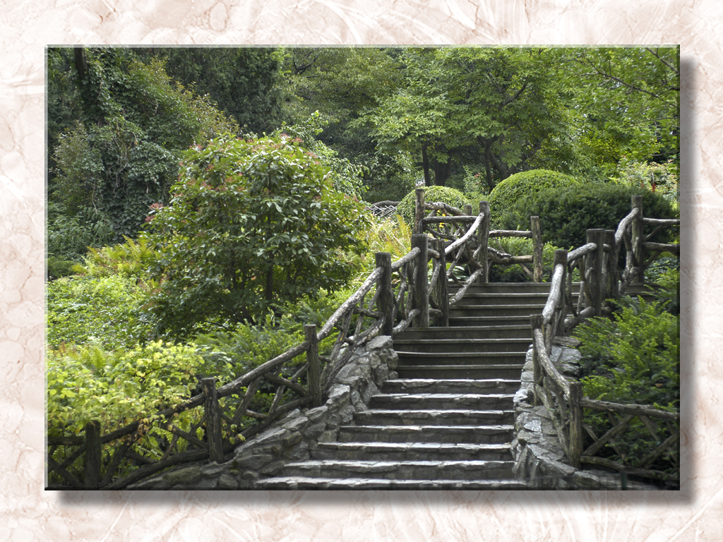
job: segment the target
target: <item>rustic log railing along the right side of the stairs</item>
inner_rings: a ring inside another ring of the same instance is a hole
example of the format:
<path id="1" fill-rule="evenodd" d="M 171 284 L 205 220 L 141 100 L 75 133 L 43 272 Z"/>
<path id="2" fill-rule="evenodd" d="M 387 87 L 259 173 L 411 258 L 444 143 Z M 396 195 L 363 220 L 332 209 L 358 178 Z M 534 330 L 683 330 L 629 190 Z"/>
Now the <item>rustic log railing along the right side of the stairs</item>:
<path id="1" fill-rule="evenodd" d="M 680 220 L 659 220 L 643 216 L 642 197 L 634 196 L 630 214 L 623 218 L 617 231 L 588 230 L 587 243 L 576 250 L 555 251 L 550 292 L 542 314 L 531 318 L 533 337 L 533 382 L 534 404 L 547 408 L 557 431 L 560 444 L 568 455 L 570 465 L 579 468 L 581 463 L 611 468 L 630 476 L 656 478 L 663 481 L 679 481 L 679 477 L 650 467 L 655 460 L 680 441 L 680 414 L 671 413 L 648 405 L 623 405 L 592 400 L 582 395 L 580 382 L 568 382 L 562 377 L 549 356 L 552 344 L 557 340 L 565 344 L 565 333 L 584 319 L 609 314 L 612 309 L 604 305 L 606 299 L 623 296 L 630 283 L 643 283 L 648 264 L 661 251 L 680 256 L 679 244 L 657 244 L 648 241 L 659 228 L 665 225 L 679 225 Z M 647 236 L 643 225 L 656 228 Z M 625 246 L 626 259 L 623 272 L 618 270 L 620 249 Z M 646 261 L 645 251 L 653 254 Z M 573 305 L 573 269 L 580 270 L 580 296 Z M 567 313 L 571 317 L 565 318 Z M 583 421 L 583 408 L 607 412 L 612 429 L 597 436 Z M 640 458 L 626 458 L 615 461 L 596 457 L 605 446 L 610 445 L 620 453 L 615 439 L 630 429 L 634 419 L 645 426 L 659 445 L 649 454 Z M 658 427 L 653 420 L 664 424 L 667 438 L 659 440 Z M 583 430 L 589 434 L 593 444 L 583 449 Z"/>

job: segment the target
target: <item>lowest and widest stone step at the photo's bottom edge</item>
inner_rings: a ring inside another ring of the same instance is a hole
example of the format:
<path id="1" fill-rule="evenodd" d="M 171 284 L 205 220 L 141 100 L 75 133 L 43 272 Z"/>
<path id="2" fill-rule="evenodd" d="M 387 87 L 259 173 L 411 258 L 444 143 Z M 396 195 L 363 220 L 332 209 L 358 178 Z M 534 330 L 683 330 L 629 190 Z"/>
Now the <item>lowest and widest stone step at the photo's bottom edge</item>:
<path id="1" fill-rule="evenodd" d="M 398 480 L 388 478 L 310 478 L 284 476 L 256 483 L 258 489 L 423 489 L 512 490 L 529 489 L 517 480 Z"/>

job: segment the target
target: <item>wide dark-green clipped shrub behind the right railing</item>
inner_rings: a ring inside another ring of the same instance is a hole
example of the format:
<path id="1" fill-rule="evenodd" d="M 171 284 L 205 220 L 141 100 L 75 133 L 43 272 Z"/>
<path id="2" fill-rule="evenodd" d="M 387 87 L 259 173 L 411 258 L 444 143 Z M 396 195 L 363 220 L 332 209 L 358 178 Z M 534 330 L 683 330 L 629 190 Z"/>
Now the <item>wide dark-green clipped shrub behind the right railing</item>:
<path id="1" fill-rule="evenodd" d="M 621 184 L 576 184 L 530 194 L 515 202 L 503 217 L 503 228 L 516 229 L 539 216 L 542 240 L 565 249 L 586 243 L 590 228 L 616 230 L 631 210 L 630 197 L 643 196 L 643 215 L 678 218 L 670 202 L 660 194 Z M 665 228 L 651 241 L 667 242 L 678 228 Z"/>

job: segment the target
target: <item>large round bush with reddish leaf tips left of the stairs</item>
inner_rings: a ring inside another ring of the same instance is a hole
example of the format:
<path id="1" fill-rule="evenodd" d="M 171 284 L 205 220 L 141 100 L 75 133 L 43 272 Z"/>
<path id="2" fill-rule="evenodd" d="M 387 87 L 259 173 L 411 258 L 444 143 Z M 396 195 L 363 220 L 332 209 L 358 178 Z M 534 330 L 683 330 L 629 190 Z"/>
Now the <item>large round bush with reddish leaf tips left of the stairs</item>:
<path id="1" fill-rule="evenodd" d="M 150 310 L 163 331 L 255 324 L 322 288 L 341 288 L 361 254 L 361 205 L 331 186 L 297 139 L 214 139 L 189 150 L 171 206 L 150 219 L 162 281 Z"/>

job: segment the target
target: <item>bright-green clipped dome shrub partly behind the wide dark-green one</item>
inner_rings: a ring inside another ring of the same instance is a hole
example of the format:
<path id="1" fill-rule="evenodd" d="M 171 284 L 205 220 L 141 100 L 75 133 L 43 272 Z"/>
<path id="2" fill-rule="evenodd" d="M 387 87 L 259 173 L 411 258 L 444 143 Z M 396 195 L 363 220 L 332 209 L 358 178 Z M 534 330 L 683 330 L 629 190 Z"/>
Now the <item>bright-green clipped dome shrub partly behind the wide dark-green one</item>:
<path id="1" fill-rule="evenodd" d="M 504 181 L 500 181 L 500 184 L 497 184 L 495 189 L 489 193 L 489 213 L 492 215 L 492 224 L 495 226 L 502 225 L 502 217 L 505 212 L 523 197 L 544 190 L 574 184 L 578 184 L 576 178 L 549 171 L 548 169 L 533 169 L 515 173 L 505 178 Z M 523 230 L 528 230 L 529 227 L 529 221 L 520 225 Z"/>

